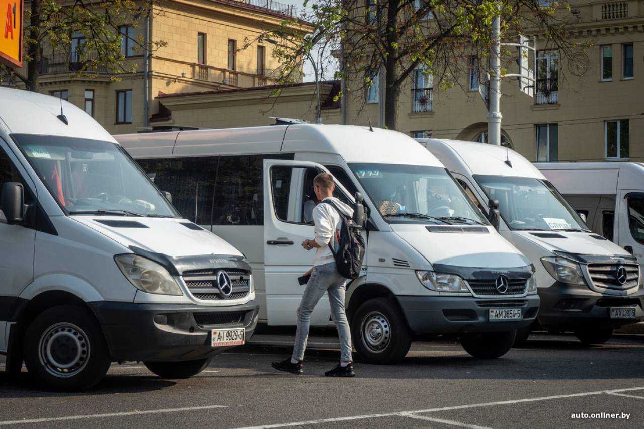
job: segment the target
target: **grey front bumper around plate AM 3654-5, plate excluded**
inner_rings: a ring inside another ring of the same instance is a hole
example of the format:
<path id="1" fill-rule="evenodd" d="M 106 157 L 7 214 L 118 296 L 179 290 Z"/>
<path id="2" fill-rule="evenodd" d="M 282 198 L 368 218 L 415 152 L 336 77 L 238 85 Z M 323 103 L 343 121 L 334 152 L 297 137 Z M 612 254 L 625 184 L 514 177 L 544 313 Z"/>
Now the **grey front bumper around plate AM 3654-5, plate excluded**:
<path id="1" fill-rule="evenodd" d="M 535 321 L 539 297 L 474 298 L 473 296 L 397 296 L 414 334 L 506 332 Z M 489 321 L 490 309 L 521 309 L 522 320 Z"/>

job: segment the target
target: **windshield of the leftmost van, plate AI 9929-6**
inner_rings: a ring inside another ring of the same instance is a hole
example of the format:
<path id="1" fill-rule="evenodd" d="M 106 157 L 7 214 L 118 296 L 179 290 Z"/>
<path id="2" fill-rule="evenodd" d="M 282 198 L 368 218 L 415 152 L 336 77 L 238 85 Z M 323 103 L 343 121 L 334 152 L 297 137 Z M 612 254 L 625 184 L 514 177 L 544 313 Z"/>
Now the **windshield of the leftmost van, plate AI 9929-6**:
<path id="1" fill-rule="evenodd" d="M 12 138 L 68 214 L 178 217 L 117 144 L 27 134 Z"/>

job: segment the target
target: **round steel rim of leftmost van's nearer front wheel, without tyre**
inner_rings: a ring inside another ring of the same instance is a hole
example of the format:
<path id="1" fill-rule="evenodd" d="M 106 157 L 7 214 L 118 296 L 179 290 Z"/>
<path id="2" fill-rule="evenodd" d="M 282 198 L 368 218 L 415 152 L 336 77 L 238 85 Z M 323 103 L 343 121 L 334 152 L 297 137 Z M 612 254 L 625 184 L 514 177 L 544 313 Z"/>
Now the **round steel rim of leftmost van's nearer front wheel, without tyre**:
<path id="1" fill-rule="evenodd" d="M 38 357 L 45 370 L 55 377 L 72 377 L 86 367 L 90 343 L 85 332 L 72 323 L 56 323 L 38 342 Z"/>

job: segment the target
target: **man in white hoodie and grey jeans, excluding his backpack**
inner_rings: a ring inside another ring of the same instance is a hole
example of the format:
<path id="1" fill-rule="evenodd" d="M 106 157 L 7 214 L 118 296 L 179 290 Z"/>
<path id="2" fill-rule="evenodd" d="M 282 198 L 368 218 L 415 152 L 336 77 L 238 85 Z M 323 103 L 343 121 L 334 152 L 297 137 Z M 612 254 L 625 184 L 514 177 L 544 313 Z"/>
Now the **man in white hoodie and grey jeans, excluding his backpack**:
<path id="1" fill-rule="evenodd" d="M 307 274 L 310 274 L 307 287 L 302 296 L 298 308 L 298 330 L 295 336 L 293 356 L 283 361 L 273 362 L 272 367 L 292 374 L 302 374 L 304 350 L 307 348 L 308 329 L 310 327 L 311 313 L 324 292 L 328 293 L 328 300 L 331 305 L 333 320 L 336 323 L 337 334 L 340 338 L 340 363 L 336 367 L 325 372 L 325 376 L 332 377 L 353 377 L 354 367 L 351 360 L 351 331 L 346 320 L 345 313 L 345 284 L 346 279 L 337 272 L 336 261 L 329 248 L 337 245 L 339 227 L 342 218 L 332 206 L 345 216 L 351 217 L 354 211 L 333 196 L 336 189 L 333 183 L 333 176 L 328 173 L 320 173 L 313 181 L 317 199 L 321 201 L 313 209 L 315 221 L 315 238 L 304 240 L 302 247 L 307 251 L 316 249 L 316 256 L 313 260 L 314 267 Z M 335 247 L 334 247 L 335 248 Z"/>

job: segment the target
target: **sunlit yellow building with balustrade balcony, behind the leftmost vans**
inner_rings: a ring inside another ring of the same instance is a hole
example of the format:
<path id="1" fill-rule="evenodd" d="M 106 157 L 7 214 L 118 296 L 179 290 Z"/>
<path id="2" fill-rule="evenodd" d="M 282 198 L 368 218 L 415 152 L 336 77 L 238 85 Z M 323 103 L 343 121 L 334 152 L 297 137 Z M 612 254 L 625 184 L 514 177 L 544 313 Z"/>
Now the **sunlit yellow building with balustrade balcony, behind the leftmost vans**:
<path id="1" fill-rule="evenodd" d="M 39 91 L 73 102 L 110 133 L 132 133 L 171 117 L 159 96 L 225 91 L 272 84 L 274 43 L 256 43 L 264 30 L 297 16 L 297 8 L 269 0 L 166 0 L 155 2 L 149 19 L 119 28 L 126 68 L 113 82 L 104 70 L 75 77 L 81 35 L 60 52 L 43 49 Z M 308 32 L 306 24 L 298 30 Z M 164 46 L 144 55 L 145 35 Z M 245 46 L 247 42 L 251 43 Z M 146 66 L 147 62 L 147 66 Z M 189 124 L 184 124 L 189 125 Z"/>

